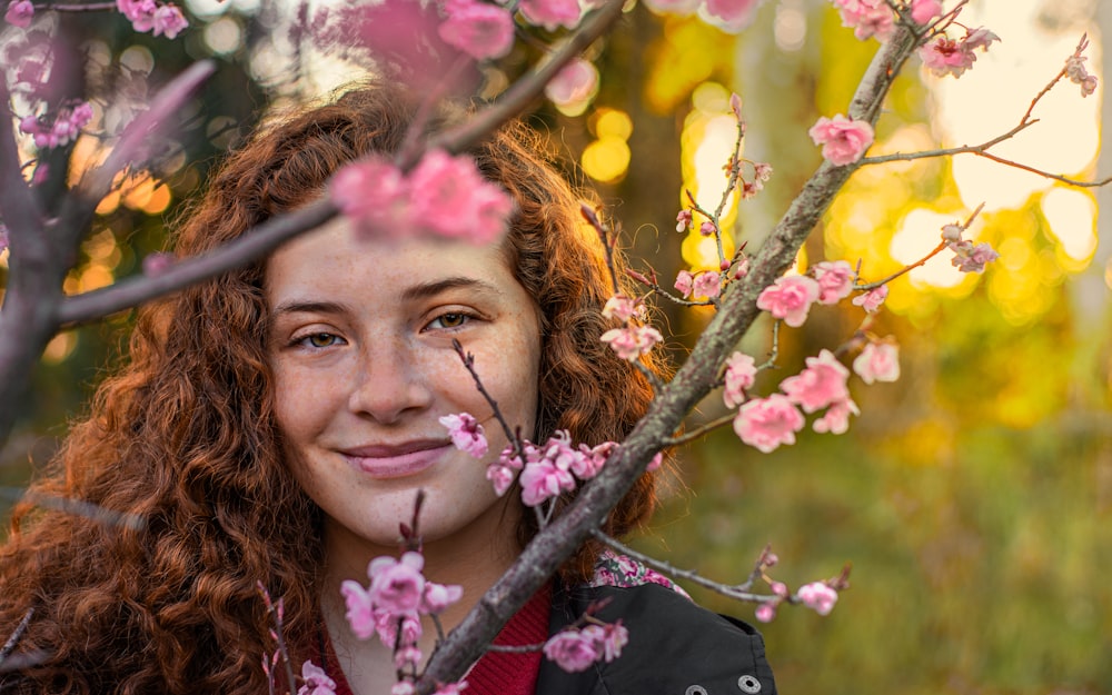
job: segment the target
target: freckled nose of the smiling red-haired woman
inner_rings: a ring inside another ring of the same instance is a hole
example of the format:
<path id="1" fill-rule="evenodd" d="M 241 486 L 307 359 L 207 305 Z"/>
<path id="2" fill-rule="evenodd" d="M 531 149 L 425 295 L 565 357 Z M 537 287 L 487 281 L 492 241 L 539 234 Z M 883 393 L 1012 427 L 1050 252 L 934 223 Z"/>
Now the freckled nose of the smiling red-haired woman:
<path id="1" fill-rule="evenodd" d="M 386 342 L 381 337 L 370 342 L 376 345 L 360 354 L 349 397 L 350 409 L 378 423 L 393 424 L 408 413 L 428 408 L 433 391 L 413 348 L 401 340 Z"/>

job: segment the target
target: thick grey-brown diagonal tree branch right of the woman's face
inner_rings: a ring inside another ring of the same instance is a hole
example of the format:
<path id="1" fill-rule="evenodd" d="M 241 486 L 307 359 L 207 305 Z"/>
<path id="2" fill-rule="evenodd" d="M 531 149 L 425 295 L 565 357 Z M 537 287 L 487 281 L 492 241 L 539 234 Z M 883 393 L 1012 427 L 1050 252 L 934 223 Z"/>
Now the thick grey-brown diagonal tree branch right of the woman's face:
<path id="1" fill-rule="evenodd" d="M 913 48 L 914 37 L 906 29 L 901 29 L 880 49 L 854 96 L 850 108 L 852 118 L 875 118 L 884 96 Z M 711 389 L 726 354 L 759 314 L 757 295 L 791 266 L 800 247 L 854 169 L 854 166 L 835 167 L 824 162 L 811 177 L 754 257 L 751 272 L 744 280 L 727 288 L 718 312 L 672 383 L 657 394 L 645 417 L 606 461 L 598 476 L 583 487 L 559 517 L 534 537 L 506 574 L 448 635 L 444 647 L 433 655 L 418 681 L 418 693 L 428 695 L 437 683 L 458 681 L 483 655 L 500 626 L 525 605 L 540 585 L 552 578 L 563 558 L 569 557 L 599 527 L 606 514 L 645 471 L 668 436 Z"/>

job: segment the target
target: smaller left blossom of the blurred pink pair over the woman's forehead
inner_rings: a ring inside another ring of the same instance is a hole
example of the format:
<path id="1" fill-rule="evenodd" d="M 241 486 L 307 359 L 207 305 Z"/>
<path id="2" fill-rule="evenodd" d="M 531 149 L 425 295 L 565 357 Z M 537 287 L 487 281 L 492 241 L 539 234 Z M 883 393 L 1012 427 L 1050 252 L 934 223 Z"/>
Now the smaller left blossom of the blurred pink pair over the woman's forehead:
<path id="1" fill-rule="evenodd" d="M 410 226 L 409 183 L 381 158 L 350 163 L 332 177 L 331 200 L 359 232 L 400 236 Z"/>

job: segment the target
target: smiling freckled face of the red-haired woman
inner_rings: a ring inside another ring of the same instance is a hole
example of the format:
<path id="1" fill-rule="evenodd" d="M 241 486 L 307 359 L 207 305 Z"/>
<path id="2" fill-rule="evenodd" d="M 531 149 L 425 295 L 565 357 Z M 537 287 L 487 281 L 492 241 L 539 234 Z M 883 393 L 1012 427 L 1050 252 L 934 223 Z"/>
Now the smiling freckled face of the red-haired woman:
<path id="1" fill-rule="evenodd" d="M 515 543 L 519 509 L 486 479 L 506 438 L 451 345 L 474 354 L 510 426 L 532 433 L 539 321 L 500 250 L 361 241 L 337 220 L 282 247 L 266 278 L 278 423 L 328 548 L 396 549 L 418 488 L 426 543 Z M 486 428 L 481 461 L 438 421 L 460 411 Z"/>

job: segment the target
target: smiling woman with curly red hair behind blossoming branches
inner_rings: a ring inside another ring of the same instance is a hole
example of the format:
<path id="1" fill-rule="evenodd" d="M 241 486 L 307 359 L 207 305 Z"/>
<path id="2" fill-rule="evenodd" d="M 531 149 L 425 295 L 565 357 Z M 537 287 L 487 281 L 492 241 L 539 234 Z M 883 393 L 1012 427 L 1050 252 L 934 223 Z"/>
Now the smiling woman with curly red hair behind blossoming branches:
<path id="1" fill-rule="evenodd" d="M 212 179 L 178 254 L 310 202 L 367 152 L 397 151 L 415 108 L 409 95 L 375 87 L 261 129 Z M 37 663 L 0 673 L 0 692 L 267 692 L 260 664 L 274 641 L 260 583 L 284 598 L 297 664 L 322 662 L 340 692 L 387 692 L 390 655 L 354 638 L 339 585 L 366 582 L 370 558 L 397 554 L 417 488 L 428 495 L 425 575 L 464 587 L 441 616 L 446 627 L 458 623 L 536 520 L 447 445 L 438 419 L 459 411 L 487 424 L 485 460 L 505 445 L 453 339 L 535 441 L 558 429 L 576 443 L 620 440 L 652 396 L 598 339 L 610 327 L 600 314 L 610 294 L 602 248 L 534 145 L 509 126 L 470 152 L 515 201 L 498 247 L 356 241 L 339 219 L 139 312 L 130 364 L 100 387 L 34 490 L 145 524 L 14 512 L 0 554 L 0 626 L 33 609 L 17 655 Z M 652 474 L 637 483 L 607 533 L 647 518 L 653 484 Z M 668 674 L 687 684 L 679 692 L 707 692 L 705 666 L 685 669 L 708 649 L 726 651 L 715 677 L 734 691 L 774 692 L 752 628 L 658 585 L 593 587 L 598 559 L 598 547 L 583 547 L 502 638 L 543 641 L 606 595 L 608 619 L 631 631 L 626 655 L 568 675 L 536 654 L 492 653 L 469 674 L 473 693 L 620 692 L 624 683 L 664 693 Z"/>

